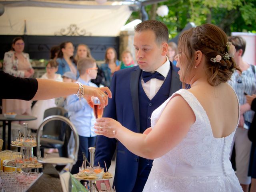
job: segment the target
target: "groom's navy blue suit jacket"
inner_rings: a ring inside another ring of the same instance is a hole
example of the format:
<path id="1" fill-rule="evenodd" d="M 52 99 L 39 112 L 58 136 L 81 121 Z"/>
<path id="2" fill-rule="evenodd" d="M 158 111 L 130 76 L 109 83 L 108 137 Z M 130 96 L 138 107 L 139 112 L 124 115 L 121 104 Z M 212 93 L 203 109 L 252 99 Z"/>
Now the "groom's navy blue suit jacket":
<path id="1" fill-rule="evenodd" d="M 170 70 L 169 96 L 181 88 L 178 68 L 171 64 Z M 142 70 L 138 66 L 114 73 L 110 86 L 112 99 L 109 100 L 103 114 L 104 117 L 117 120 L 133 132 L 140 132 L 138 89 L 141 73 Z M 100 166 L 104 167 L 104 161 L 106 161 L 109 168 L 116 148 L 116 171 L 113 185 L 118 192 L 131 192 L 137 178 L 138 156 L 127 150 L 122 143 L 116 139 L 97 136 L 95 165 L 99 162 Z"/>

